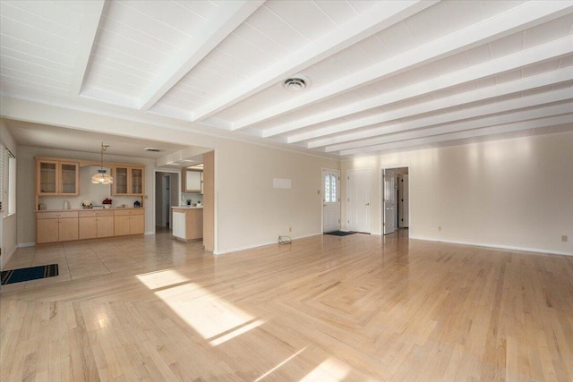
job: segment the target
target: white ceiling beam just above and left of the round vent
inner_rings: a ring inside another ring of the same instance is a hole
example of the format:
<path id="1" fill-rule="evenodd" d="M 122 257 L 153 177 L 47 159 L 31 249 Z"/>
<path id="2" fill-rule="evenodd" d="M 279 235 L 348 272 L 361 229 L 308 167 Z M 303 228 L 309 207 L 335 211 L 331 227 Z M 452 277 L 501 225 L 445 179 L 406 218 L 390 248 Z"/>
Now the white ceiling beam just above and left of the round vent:
<path id="1" fill-rule="evenodd" d="M 311 44 L 295 52 L 293 55 L 270 65 L 267 69 L 244 81 L 234 89 L 230 89 L 219 98 L 201 107 L 194 114 L 195 121 L 201 121 L 215 115 L 227 107 L 266 89 L 280 80 L 299 72 L 312 64 L 346 49 L 358 41 L 368 38 L 381 30 L 423 11 L 437 1 L 399 1 L 384 2 L 373 7 L 368 13 L 363 13 L 355 19 L 346 22 L 328 35 L 313 41 Z"/>

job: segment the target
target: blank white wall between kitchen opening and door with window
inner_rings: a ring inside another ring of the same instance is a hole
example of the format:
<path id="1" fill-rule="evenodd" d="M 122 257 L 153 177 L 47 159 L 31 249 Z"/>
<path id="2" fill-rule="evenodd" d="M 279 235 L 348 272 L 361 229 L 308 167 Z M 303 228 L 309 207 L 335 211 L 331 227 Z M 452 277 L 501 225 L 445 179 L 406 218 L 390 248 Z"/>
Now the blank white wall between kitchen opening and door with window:
<path id="1" fill-rule="evenodd" d="M 321 169 L 338 160 L 227 141 L 215 152 L 218 253 L 320 234 Z M 273 178 L 291 189 L 274 189 Z M 288 228 L 293 231 L 289 232 Z"/>

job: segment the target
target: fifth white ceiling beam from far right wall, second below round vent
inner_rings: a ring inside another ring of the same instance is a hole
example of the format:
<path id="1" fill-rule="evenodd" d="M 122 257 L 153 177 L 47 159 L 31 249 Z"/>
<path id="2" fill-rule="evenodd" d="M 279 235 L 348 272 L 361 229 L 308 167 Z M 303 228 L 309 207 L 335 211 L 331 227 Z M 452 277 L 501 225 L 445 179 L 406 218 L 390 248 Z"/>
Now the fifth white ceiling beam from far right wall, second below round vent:
<path id="1" fill-rule="evenodd" d="M 420 97 L 434 91 L 448 89 L 470 81 L 480 80 L 498 73 L 509 72 L 518 68 L 542 63 L 571 53 L 573 36 L 560 38 L 548 44 L 532 47 L 513 55 L 506 55 L 483 64 L 441 75 L 428 81 L 418 82 L 411 86 L 389 91 L 372 98 L 366 98 L 346 106 L 337 107 L 324 113 L 311 115 L 295 122 L 275 125 L 262 132 L 264 138 L 273 137 L 286 132 L 293 132 L 312 124 L 325 123 L 346 115 L 354 115 L 372 108 L 389 105 L 409 98 Z"/>

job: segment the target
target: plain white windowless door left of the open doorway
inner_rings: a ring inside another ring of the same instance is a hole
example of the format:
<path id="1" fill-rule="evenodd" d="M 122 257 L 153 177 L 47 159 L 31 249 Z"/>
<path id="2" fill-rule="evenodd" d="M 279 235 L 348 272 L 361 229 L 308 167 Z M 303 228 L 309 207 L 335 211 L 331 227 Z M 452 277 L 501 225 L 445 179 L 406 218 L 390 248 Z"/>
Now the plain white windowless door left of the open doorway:
<path id="1" fill-rule="evenodd" d="M 370 233 L 371 170 L 348 170 L 348 230 Z"/>

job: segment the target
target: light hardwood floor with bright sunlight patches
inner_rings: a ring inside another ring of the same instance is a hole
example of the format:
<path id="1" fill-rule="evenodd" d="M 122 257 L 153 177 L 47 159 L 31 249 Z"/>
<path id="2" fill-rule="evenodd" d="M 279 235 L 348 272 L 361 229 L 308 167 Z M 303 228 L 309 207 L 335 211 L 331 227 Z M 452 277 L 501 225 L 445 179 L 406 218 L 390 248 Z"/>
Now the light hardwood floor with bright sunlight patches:
<path id="1" fill-rule="evenodd" d="M 79 245 L 140 267 L 3 288 L 0 380 L 573 380 L 573 257 L 396 234 Z"/>

